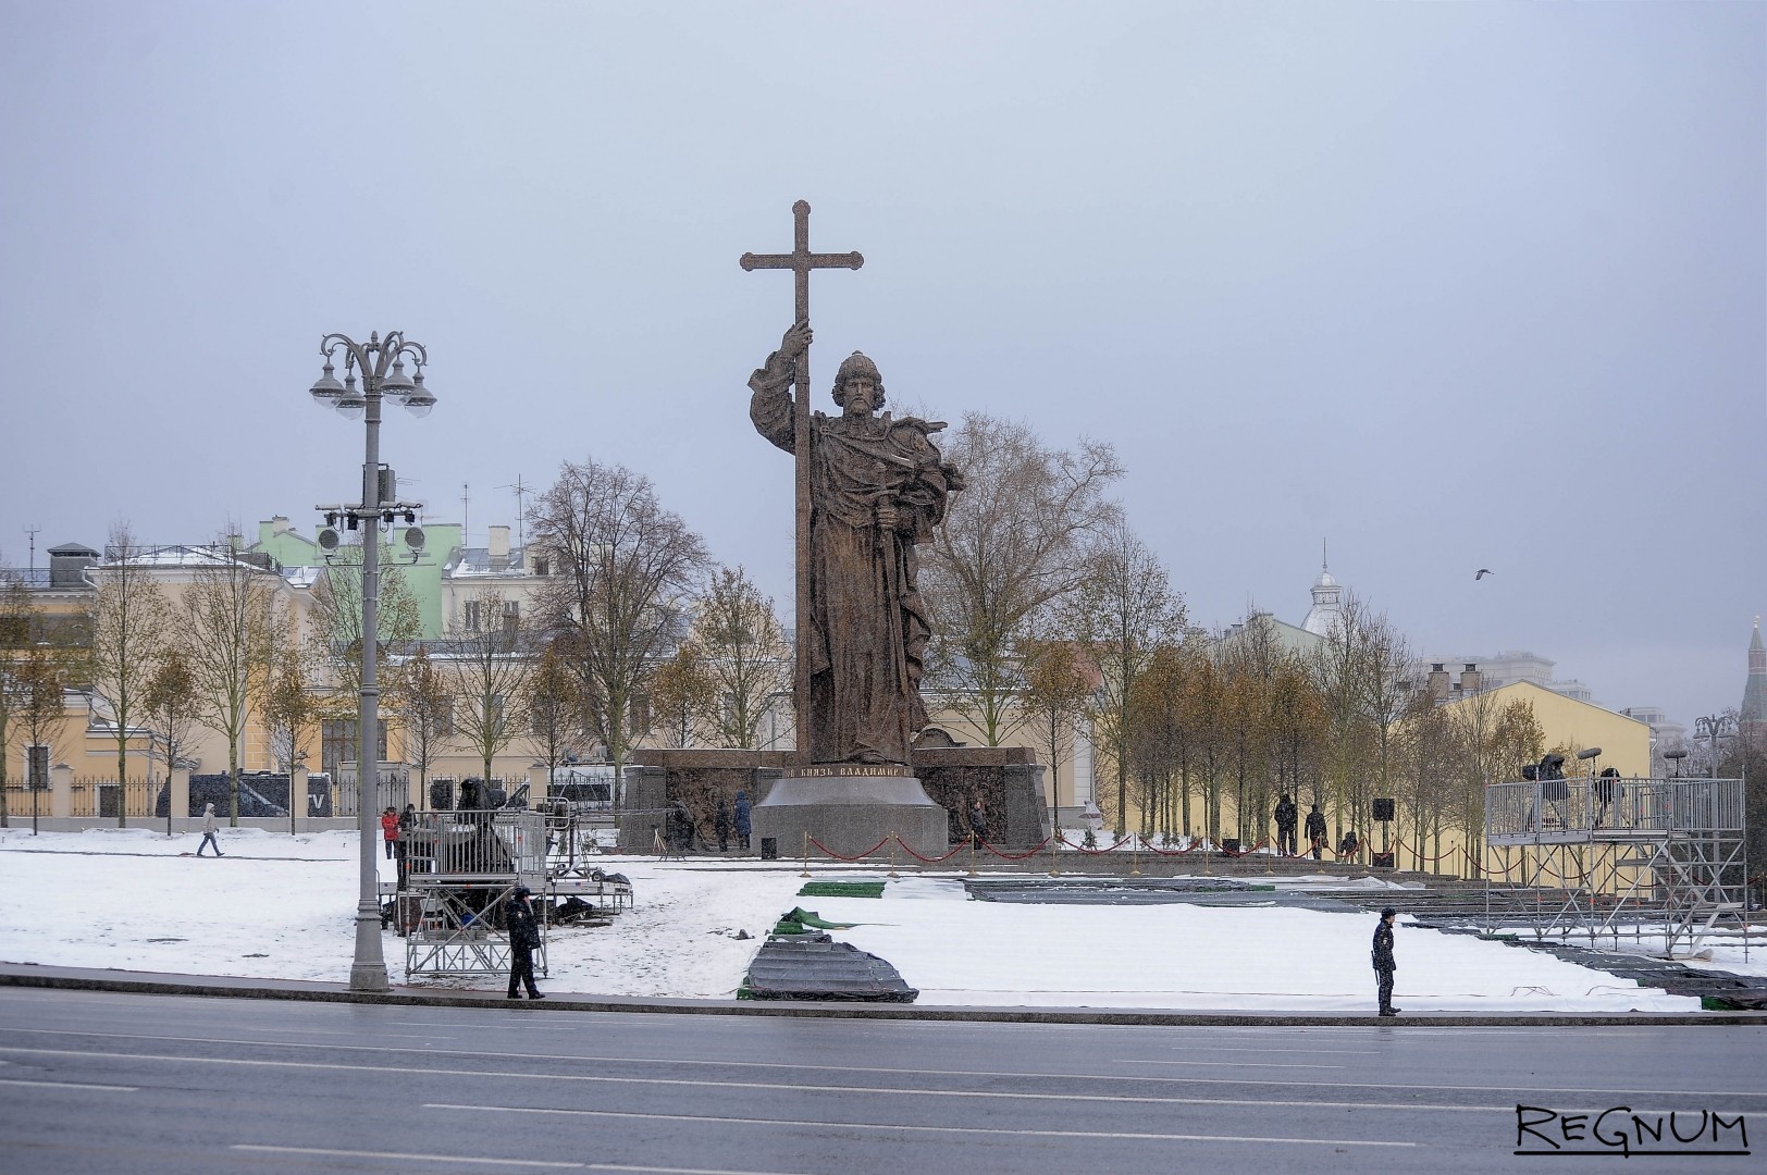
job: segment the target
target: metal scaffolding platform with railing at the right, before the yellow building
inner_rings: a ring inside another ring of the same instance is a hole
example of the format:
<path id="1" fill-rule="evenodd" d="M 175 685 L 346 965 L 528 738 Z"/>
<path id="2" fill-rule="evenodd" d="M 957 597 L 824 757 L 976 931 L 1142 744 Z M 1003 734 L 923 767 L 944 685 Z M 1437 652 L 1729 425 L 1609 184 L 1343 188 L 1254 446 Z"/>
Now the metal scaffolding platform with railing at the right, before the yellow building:
<path id="1" fill-rule="evenodd" d="M 1585 776 L 1484 790 L 1486 929 L 1590 945 L 1663 936 L 1689 954 L 1718 933 L 1748 947 L 1740 779 Z"/>

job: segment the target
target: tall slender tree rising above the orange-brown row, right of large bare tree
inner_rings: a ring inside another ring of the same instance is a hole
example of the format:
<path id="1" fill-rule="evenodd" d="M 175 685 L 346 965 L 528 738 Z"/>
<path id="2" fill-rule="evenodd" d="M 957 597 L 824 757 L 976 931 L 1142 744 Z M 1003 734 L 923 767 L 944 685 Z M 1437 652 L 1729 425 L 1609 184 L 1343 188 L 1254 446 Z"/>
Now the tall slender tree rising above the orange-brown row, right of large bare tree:
<path id="1" fill-rule="evenodd" d="M 1117 772 L 1115 827 L 1122 836 L 1129 806 L 1129 691 L 1154 650 L 1179 640 L 1184 601 L 1152 551 L 1124 528 L 1096 548 L 1090 572 L 1071 601 L 1073 631 L 1099 673 L 1090 716 L 1099 749 Z"/>

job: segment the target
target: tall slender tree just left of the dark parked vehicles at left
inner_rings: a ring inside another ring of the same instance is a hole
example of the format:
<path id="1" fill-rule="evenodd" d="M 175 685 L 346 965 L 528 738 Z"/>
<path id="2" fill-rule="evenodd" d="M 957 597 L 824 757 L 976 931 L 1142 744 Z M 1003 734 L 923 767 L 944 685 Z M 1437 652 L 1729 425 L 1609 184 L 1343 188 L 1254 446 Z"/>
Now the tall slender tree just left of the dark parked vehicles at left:
<path id="1" fill-rule="evenodd" d="M 97 594 L 87 620 L 92 634 L 88 686 L 110 712 L 117 788 L 122 793 L 129 783 L 129 742 L 140 737 L 141 694 L 166 643 L 170 608 L 166 594 L 140 558 L 129 523 L 111 525 L 108 558 L 90 574 Z M 127 804 L 117 804 L 117 827 L 129 822 L 127 811 Z"/>

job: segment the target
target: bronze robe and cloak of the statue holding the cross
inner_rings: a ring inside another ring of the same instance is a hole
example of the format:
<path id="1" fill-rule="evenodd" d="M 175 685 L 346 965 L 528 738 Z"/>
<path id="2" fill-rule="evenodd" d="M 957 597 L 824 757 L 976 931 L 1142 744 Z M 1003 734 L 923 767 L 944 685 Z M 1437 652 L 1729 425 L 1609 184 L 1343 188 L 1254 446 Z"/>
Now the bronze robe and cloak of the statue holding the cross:
<path id="1" fill-rule="evenodd" d="M 790 364 L 755 373 L 755 429 L 795 452 Z M 809 421 L 809 732 L 813 763 L 906 763 L 928 724 L 921 668 L 931 625 L 915 544 L 945 516 L 951 474 L 926 421 L 820 412 Z M 878 527 L 876 507 L 896 507 Z"/>

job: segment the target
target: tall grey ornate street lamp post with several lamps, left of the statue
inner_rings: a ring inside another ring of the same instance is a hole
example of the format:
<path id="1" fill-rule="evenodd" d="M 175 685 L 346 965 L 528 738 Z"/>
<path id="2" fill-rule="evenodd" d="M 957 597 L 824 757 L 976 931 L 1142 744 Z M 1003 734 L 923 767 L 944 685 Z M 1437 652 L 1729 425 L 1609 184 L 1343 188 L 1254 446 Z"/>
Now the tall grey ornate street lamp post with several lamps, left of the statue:
<path id="1" fill-rule="evenodd" d="M 332 357 L 345 355 L 345 378 L 337 382 Z M 392 521 L 394 507 L 410 512 L 415 504 L 387 502 L 380 486 L 380 401 L 383 396 L 403 403 L 413 415 L 428 415 L 435 396 L 424 387 L 424 364 L 429 360 L 421 343 L 412 343 L 403 330 L 391 330 L 382 339 L 378 332 L 368 343 L 357 343 L 345 334 L 327 334 L 320 339 L 325 371 L 309 389 L 322 406 L 336 408 L 345 419 L 368 417 L 368 454 L 362 458 L 362 502 L 337 511 L 362 525 L 362 698 L 357 712 L 357 823 L 360 832 L 360 892 L 355 906 L 355 959 L 350 963 L 352 991 L 387 991 L 387 961 L 380 949 L 380 873 L 375 862 L 375 815 L 378 811 L 376 785 L 380 783 L 380 686 L 376 684 L 376 641 L 380 604 L 380 523 L 385 512 Z M 410 359 L 413 375 L 405 373 Z M 362 387 L 355 376 L 362 373 Z M 413 518 L 415 521 L 415 518 Z"/>

